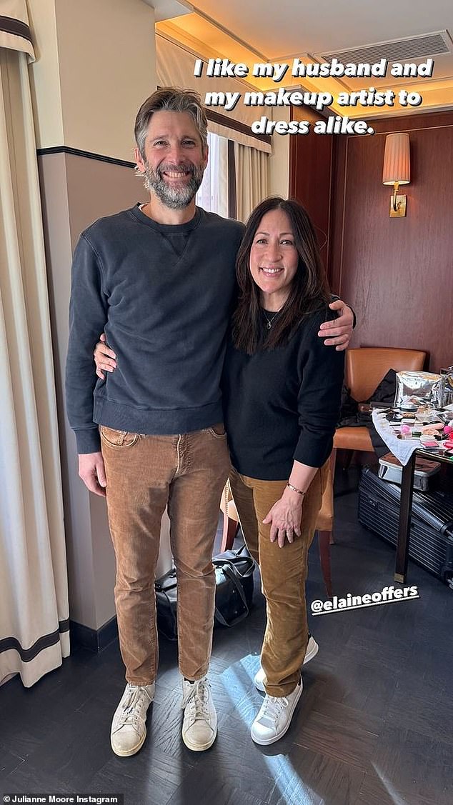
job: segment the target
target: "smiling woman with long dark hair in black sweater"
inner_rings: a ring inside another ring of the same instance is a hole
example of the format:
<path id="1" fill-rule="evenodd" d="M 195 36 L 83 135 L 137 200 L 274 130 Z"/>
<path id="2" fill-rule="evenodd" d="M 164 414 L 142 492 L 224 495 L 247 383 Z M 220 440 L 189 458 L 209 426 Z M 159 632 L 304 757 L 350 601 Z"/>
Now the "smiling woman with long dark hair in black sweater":
<path id="1" fill-rule="evenodd" d="M 229 483 L 266 597 L 255 678 L 266 697 L 251 735 L 268 745 L 289 729 L 303 690 L 307 551 L 327 486 L 344 360 L 317 335 L 331 313 L 329 293 L 315 230 L 300 204 L 278 197 L 258 204 L 237 255 L 237 280 L 224 423 Z"/>

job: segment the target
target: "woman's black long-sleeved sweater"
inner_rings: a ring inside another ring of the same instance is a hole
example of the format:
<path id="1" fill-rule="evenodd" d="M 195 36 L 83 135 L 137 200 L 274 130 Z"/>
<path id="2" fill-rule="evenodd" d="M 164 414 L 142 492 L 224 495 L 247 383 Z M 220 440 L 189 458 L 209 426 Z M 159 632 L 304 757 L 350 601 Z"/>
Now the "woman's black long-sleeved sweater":
<path id="1" fill-rule="evenodd" d="M 268 317 L 273 316 L 268 313 Z M 293 461 L 321 467 L 332 452 L 340 414 L 344 352 L 325 346 L 322 308 L 299 325 L 289 343 L 247 355 L 227 348 L 222 382 L 224 423 L 233 466 L 264 481 L 289 477 Z"/>

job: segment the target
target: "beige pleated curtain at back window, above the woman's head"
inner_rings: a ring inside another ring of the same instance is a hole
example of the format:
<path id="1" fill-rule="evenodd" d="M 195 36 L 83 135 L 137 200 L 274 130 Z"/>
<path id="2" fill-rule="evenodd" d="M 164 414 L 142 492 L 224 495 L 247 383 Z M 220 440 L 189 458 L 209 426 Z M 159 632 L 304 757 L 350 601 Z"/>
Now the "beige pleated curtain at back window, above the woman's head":
<path id="1" fill-rule="evenodd" d="M 262 151 L 234 143 L 236 217 L 247 221 L 253 207 L 269 196 L 269 157 Z"/>

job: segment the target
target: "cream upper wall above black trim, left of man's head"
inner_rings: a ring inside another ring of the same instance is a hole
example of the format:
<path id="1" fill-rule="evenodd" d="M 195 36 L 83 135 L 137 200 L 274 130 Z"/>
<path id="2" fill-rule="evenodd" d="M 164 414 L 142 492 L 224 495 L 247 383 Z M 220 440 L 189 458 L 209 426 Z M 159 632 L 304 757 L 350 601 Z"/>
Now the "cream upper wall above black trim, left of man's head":
<path id="1" fill-rule="evenodd" d="M 134 159 L 156 86 L 154 10 L 142 0 L 28 0 L 37 147 Z"/>

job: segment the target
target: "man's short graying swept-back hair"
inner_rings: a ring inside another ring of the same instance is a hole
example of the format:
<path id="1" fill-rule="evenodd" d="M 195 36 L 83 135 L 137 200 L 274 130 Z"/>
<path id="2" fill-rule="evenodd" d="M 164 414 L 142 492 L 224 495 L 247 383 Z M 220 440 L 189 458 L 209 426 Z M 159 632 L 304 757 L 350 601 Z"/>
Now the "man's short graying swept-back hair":
<path id="1" fill-rule="evenodd" d="M 154 112 L 163 111 L 187 112 L 187 114 L 190 114 L 196 130 L 200 134 L 203 150 L 206 149 L 208 145 L 208 121 L 201 105 L 200 95 L 191 89 L 163 87 L 163 89 L 157 89 L 149 98 L 146 98 L 146 101 L 138 109 L 137 118 L 135 118 L 135 142 L 143 160 L 145 159 L 145 140 L 150 119 Z"/>

